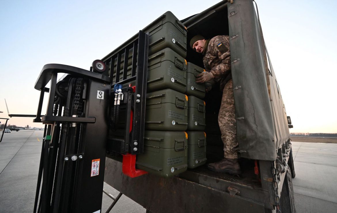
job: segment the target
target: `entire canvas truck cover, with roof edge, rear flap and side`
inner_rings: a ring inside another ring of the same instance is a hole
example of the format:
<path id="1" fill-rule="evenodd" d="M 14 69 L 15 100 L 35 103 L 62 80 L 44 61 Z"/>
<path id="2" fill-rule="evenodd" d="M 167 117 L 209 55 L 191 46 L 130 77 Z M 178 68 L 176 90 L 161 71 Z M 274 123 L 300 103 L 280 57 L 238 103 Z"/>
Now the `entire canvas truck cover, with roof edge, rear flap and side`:
<path id="1" fill-rule="evenodd" d="M 279 91 L 276 94 L 273 92 L 276 87 L 278 89 L 278 86 L 274 85 L 277 84 L 275 76 L 268 76 L 267 62 L 264 60 L 266 51 L 263 49 L 253 1 L 222 1 L 183 20 L 183 24 L 187 30 L 193 31 L 197 23 L 205 22 L 202 19 L 208 19 L 221 12 L 228 13 L 240 155 L 249 159 L 275 160 L 276 149 L 289 139 L 289 131 L 285 128 L 286 115 L 281 95 Z M 276 100 L 277 94 L 279 95 Z"/>

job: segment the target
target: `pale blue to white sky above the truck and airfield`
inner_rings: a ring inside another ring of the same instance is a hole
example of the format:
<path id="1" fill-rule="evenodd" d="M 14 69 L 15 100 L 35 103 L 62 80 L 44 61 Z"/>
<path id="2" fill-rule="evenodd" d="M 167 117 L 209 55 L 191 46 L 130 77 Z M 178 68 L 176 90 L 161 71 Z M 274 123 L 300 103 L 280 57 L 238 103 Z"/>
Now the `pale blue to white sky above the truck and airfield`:
<path id="1" fill-rule="evenodd" d="M 238 0 L 234 0 L 238 1 Z M 191 3 L 193 2 L 193 3 Z M 0 1 L 0 117 L 35 114 L 47 63 L 89 70 L 164 12 L 180 20 L 219 1 Z M 256 0 L 290 132 L 337 132 L 337 1 Z M 45 94 L 47 103 L 48 94 Z M 45 112 L 45 107 L 42 112 Z M 5 120 L 0 120 L 2 123 Z M 32 118 L 9 124 L 43 127 Z"/>

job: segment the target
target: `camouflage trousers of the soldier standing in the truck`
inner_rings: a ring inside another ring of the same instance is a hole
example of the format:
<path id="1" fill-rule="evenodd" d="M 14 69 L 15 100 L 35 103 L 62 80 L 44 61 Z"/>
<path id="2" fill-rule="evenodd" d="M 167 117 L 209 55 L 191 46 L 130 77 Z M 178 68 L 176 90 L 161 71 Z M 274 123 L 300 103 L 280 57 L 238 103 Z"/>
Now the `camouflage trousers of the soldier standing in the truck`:
<path id="1" fill-rule="evenodd" d="M 231 159 L 239 158 L 232 79 L 226 83 L 223 89 L 218 122 L 223 142 L 224 157 Z"/>

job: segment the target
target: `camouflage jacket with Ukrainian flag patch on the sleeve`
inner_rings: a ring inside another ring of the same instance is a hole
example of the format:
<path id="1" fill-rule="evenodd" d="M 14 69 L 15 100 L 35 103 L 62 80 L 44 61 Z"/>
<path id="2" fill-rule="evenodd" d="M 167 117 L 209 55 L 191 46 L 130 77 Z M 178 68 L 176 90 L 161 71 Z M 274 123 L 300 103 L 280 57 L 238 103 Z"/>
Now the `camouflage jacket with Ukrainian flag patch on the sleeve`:
<path id="1" fill-rule="evenodd" d="M 205 70 L 213 73 L 214 80 L 220 83 L 220 89 L 223 90 L 225 84 L 231 79 L 228 35 L 217 35 L 210 39 L 203 62 Z"/>

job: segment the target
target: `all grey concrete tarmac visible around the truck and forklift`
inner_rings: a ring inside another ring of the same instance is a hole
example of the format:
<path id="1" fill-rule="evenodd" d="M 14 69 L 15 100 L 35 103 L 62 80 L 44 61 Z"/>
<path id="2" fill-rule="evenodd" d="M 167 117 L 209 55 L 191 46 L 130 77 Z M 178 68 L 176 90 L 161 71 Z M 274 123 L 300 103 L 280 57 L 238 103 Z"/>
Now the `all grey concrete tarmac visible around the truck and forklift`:
<path id="1" fill-rule="evenodd" d="M 43 131 L 5 133 L 0 143 L 0 212 L 33 212 Z M 293 179 L 298 213 L 337 212 L 337 144 L 292 142 L 296 177 Z M 104 183 L 115 197 L 118 191 Z M 112 203 L 103 193 L 102 212 Z M 111 212 L 145 213 L 122 195 Z"/>

